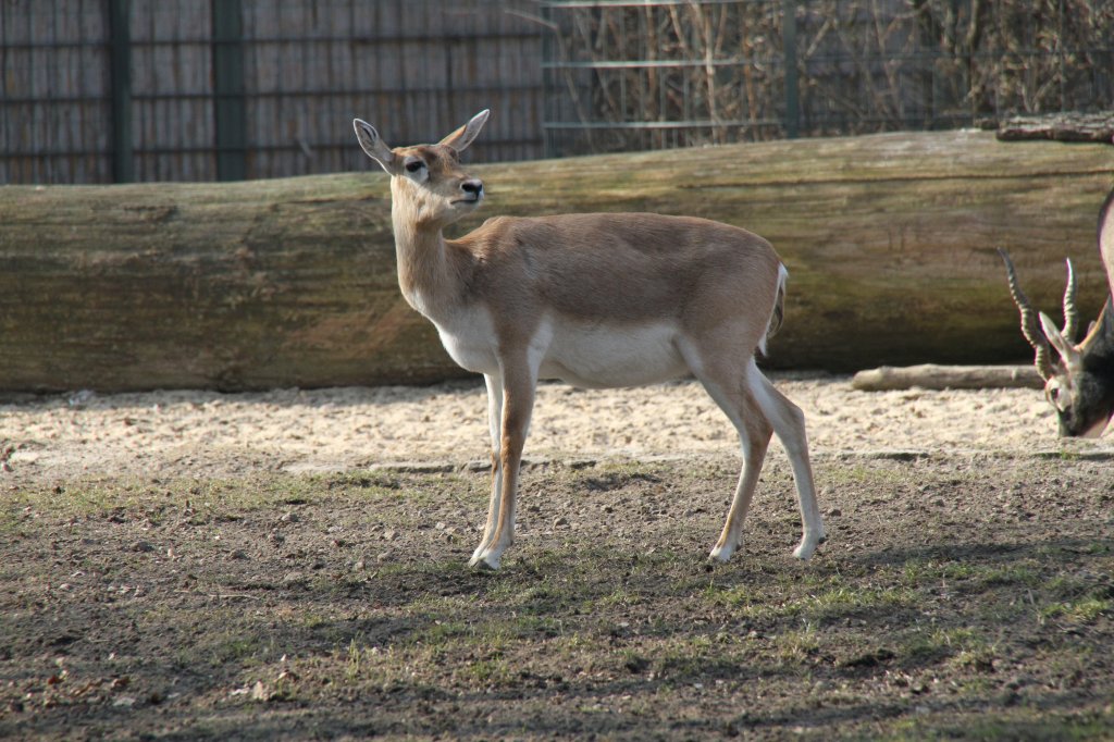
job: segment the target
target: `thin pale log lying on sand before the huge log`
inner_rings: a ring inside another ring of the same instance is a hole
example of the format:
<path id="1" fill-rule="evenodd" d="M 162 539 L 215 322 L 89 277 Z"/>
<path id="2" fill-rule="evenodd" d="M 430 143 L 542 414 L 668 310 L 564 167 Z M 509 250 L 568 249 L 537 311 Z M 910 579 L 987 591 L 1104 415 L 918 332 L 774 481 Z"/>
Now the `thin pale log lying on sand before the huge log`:
<path id="1" fill-rule="evenodd" d="M 851 379 L 859 391 L 921 389 L 1044 389 L 1034 365 L 937 365 L 922 363 L 859 371 Z"/>

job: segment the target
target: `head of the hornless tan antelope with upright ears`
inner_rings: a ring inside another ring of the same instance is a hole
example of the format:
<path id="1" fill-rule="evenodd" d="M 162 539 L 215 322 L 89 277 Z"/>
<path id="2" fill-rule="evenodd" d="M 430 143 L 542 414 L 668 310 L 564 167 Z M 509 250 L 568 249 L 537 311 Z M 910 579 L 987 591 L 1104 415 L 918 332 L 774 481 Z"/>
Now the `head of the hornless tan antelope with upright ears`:
<path id="1" fill-rule="evenodd" d="M 409 209 L 407 222 L 440 228 L 476 211 L 483 182 L 460 166 L 460 153 L 472 143 L 488 111 L 477 114 L 436 145 L 391 149 L 365 121 L 355 119 L 363 150 L 391 175 L 392 208 Z"/>

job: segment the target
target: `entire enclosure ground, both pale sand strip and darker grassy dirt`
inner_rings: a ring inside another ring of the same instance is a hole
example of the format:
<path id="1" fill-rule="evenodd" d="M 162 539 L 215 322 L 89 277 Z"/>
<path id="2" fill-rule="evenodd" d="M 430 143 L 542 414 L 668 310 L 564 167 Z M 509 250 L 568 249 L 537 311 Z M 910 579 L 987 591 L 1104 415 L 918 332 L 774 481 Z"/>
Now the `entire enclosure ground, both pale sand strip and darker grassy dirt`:
<path id="1" fill-rule="evenodd" d="M 3 739 L 1111 739 L 1114 439 L 1039 392 L 782 377 L 737 476 L 694 384 L 543 388 L 504 569 L 481 387 L 0 406 Z"/>

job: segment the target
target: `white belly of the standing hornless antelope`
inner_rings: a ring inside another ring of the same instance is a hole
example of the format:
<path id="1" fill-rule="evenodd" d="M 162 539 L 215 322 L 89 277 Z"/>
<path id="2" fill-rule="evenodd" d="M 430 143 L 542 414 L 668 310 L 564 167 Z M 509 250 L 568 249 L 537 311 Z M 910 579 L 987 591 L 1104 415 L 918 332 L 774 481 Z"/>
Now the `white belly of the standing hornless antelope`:
<path id="1" fill-rule="evenodd" d="M 676 333 L 674 324 L 664 322 L 644 325 L 546 322 L 539 328 L 531 350 L 541 354 L 540 379 L 559 379 L 587 388 L 641 387 L 688 372 L 677 350 Z"/>

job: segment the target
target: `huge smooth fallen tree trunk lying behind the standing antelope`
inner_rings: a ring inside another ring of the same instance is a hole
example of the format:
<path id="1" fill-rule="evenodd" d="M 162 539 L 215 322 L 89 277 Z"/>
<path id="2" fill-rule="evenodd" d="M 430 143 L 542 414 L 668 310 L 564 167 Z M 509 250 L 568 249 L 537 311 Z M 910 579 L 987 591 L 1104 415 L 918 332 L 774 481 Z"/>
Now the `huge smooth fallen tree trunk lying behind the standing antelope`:
<path id="1" fill-rule="evenodd" d="M 477 165 L 489 198 L 461 230 L 573 211 L 720 219 L 768 237 L 790 269 L 772 367 L 1022 361 L 995 247 L 1046 310 L 1072 256 L 1095 316 L 1112 164 L 1103 145 L 947 131 Z M 371 163 L 233 184 L 0 187 L 0 390 L 461 375 L 399 295 L 389 211 Z"/>

